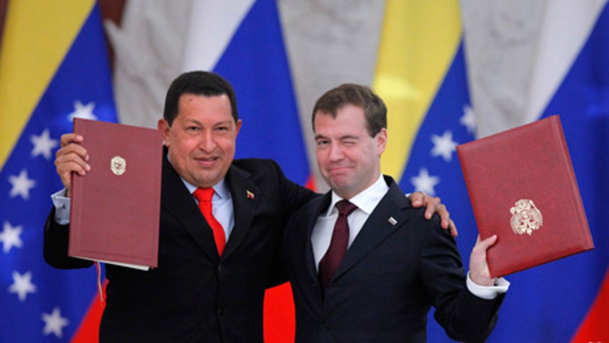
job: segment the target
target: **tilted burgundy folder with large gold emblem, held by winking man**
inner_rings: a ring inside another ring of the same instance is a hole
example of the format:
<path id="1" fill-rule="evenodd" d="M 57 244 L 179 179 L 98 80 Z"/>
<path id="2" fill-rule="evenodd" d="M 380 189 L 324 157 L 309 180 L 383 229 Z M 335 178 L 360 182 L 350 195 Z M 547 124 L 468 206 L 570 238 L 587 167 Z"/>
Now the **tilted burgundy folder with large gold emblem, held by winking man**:
<path id="1" fill-rule="evenodd" d="M 491 276 L 594 248 L 558 115 L 457 146 Z"/>

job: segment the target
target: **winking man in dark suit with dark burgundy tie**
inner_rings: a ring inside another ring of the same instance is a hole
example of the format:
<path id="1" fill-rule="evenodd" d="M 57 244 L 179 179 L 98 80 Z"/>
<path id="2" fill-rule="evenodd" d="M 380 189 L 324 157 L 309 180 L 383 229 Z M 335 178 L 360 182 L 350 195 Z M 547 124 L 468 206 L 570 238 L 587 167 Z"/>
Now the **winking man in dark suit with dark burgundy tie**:
<path id="1" fill-rule="evenodd" d="M 354 84 L 315 104 L 317 163 L 332 191 L 298 209 L 285 230 L 296 341 L 425 342 L 431 306 L 451 338 L 485 341 L 508 286 L 488 272 L 496 236 L 478 239 L 466 276 L 439 218 L 426 220 L 381 175 L 386 112 L 369 88 Z"/>

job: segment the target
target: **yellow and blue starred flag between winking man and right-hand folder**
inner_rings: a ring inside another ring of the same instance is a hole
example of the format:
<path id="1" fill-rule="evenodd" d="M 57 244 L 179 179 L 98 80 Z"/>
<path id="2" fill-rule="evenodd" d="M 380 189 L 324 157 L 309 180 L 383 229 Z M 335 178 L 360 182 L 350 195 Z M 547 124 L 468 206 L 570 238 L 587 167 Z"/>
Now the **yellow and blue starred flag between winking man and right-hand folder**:
<path id="1" fill-rule="evenodd" d="M 442 198 L 459 228 L 463 263 L 476 242 L 456 145 L 474 139 L 459 2 L 389 0 L 373 88 L 387 104 L 383 173 Z M 450 341 L 433 319 L 428 341 Z"/>

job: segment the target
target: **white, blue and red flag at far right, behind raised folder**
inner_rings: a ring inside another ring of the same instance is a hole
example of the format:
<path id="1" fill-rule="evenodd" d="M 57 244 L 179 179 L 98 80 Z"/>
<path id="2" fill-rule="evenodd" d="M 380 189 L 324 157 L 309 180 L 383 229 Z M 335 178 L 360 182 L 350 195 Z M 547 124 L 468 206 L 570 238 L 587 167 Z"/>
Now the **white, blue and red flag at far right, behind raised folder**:
<path id="1" fill-rule="evenodd" d="M 509 276 L 492 342 L 607 342 L 609 285 L 601 287 L 609 267 L 606 1 L 549 2 L 541 35 L 528 114 L 531 120 L 560 115 L 595 249 Z"/>

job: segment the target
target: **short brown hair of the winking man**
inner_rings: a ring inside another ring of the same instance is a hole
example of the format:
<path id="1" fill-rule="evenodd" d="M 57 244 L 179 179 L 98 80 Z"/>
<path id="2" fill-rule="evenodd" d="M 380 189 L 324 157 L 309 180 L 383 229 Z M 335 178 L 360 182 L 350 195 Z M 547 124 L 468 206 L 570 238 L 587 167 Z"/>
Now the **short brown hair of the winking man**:
<path id="1" fill-rule="evenodd" d="M 315 114 L 318 111 L 336 118 L 337 110 L 348 104 L 364 109 L 366 128 L 371 137 L 375 137 L 382 128 L 387 128 L 385 103 L 369 87 L 357 84 L 342 84 L 324 93 L 313 107 L 313 128 L 315 129 Z"/>

